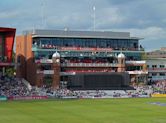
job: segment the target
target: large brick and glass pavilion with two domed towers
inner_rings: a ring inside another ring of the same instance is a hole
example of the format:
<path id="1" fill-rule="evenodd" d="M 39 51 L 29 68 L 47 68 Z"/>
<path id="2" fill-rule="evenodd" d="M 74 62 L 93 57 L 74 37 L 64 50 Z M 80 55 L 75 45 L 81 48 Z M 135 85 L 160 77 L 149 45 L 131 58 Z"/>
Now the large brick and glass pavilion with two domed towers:
<path id="1" fill-rule="evenodd" d="M 145 52 L 139 40 L 128 32 L 25 31 L 16 37 L 17 76 L 54 88 L 78 73 L 127 72 L 131 81 L 145 81 Z"/>

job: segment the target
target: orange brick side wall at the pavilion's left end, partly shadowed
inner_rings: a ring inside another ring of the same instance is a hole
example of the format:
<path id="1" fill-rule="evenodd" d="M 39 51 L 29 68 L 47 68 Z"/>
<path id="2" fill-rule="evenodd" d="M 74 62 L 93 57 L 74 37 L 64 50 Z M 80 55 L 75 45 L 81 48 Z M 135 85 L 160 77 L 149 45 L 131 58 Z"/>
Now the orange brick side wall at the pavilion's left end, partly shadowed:
<path id="1" fill-rule="evenodd" d="M 32 35 L 21 35 L 16 37 L 16 62 L 20 59 L 20 66 L 17 67 L 17 77 L 23 77 L 32 85 L 36 82 L 36 65 L 32 52 Z"/>

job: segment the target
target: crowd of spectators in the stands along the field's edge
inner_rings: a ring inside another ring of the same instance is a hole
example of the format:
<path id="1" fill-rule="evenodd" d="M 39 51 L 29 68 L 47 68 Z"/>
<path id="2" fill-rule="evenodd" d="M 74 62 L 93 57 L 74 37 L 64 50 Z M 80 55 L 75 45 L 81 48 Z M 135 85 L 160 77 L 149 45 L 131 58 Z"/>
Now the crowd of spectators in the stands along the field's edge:
<path id="1" fill-rule="evenodd" d="M 67 88 L 54 90 L 51 87 L 32 87 L 29 89 L 22 79 L 0 77 L 0 96 L 49 96 L 53 98 L 130 98 L 150 97 L 154 93 L 166 93 L 166 80 L 154 82 L 151 85 L 135 84 L 134 90 L 77 90 Z"/>

